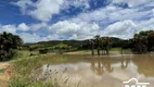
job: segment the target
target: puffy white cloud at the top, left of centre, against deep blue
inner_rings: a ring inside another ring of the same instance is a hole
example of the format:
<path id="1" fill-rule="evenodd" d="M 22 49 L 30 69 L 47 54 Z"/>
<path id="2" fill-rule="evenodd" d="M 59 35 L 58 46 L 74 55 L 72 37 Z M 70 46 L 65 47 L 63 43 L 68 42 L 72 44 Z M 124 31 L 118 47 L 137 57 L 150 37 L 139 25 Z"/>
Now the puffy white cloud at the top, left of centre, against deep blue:
<path id="1" fill-rule="evenodd" d="M 63 0 L 39 0 L 35 4 L 35 10 L 29 14 L 43 22 L 49 22 L 53 14 L 60 13 Z"/>

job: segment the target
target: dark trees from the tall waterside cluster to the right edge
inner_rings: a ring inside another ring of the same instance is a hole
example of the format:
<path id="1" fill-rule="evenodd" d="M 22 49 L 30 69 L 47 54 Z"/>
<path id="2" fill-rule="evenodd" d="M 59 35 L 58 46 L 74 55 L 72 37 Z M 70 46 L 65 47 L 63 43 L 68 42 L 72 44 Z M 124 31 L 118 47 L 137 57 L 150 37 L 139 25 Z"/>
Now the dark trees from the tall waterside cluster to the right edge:
<path id="1" fill-rule="evenodd" d="M 111 48 L 131 49 L 133 53 L 149 53 L 154 51 L 154 30 L 140 32 L 136 34 L 132 39 L 117 39 L 113 37 L 100 37 L 97 35 L 93 39 L 89 40 L 91 54 L 94 54 L 94 49 L 100 55 L 100 50 L 103 54 L 110 54 Z"/>

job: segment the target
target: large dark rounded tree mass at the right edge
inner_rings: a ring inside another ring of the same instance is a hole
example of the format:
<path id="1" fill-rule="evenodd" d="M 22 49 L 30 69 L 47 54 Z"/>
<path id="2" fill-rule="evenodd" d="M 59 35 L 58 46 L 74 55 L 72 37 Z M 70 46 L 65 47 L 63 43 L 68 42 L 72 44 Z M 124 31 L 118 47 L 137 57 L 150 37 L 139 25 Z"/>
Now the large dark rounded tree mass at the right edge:
<path id="1" fill-rule="evenodd" d="M 137 53 L 154 51 L 154 30 L 140 32 L 133 37 L 133 49 Z"/>

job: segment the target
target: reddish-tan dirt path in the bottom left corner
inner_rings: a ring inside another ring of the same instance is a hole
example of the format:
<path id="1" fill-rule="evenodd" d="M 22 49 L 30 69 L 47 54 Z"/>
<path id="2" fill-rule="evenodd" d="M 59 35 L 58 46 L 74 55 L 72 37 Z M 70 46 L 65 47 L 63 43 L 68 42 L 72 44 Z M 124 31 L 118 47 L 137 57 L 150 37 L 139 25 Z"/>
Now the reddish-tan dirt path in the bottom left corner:
<path id="1" fill-rule="evenodd" d="M 0 62 L 0 87 L 8 87 L 11 76 L 13 76 L 13 65 L 10 62 Z"/>

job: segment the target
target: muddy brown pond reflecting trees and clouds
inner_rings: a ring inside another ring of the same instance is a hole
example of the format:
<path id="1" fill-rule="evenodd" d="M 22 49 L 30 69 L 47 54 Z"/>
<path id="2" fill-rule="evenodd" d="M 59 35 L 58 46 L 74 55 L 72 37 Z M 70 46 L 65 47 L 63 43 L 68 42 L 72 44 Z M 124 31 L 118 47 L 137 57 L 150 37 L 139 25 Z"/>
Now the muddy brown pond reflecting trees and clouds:
<path id="1" fill-rule="evenodd" d="M 54 72 L 51 77 L 65 83 L 63 87 L 125 87 L 123 82 L 130 78 L 154 86 L 153 54 L 68 57 L 64 62 L 54 61 L 43 65 L 43 74 Z"/>

